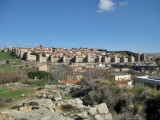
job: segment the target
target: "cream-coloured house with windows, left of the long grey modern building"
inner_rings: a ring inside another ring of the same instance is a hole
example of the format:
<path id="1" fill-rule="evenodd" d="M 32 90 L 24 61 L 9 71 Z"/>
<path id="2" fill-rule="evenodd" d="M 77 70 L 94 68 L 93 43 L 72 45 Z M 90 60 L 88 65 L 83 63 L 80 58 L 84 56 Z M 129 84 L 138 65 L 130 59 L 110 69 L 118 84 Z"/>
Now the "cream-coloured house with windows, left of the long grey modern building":
<path id="1" fill-rule="evenodd" d="M 114 73 L 111 74 L 111 77 L 115 81 L 130 81 L 132 79 L 132 76 L 130 74 L 124 74 L 124 73 Z"/>

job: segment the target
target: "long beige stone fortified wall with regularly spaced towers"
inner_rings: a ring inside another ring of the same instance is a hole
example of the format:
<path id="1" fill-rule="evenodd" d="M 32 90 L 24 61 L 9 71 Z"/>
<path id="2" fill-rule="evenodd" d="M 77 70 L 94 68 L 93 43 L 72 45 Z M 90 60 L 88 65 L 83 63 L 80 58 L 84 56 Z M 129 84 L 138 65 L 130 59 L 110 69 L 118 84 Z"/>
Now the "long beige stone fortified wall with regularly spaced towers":
<path id="1" fill-rule="evenodd" d="M 52 63 L 69 63 L 69 62 L 75 62 L 75 63 L 134 63 L 134 62 L 141 62 L 146 61 L 146 55 L 145 54 L 138 54 L 136 56 L 129 56 L 129 57 L 107 57 L 107 56 L 97 56 L 97 57 L 91 57 L 87 55 L 86 57 L 55 57 L 55 56 L 48 56 L 43 57 L 42 54 L 39 55 L 32 55 L 31 51 L 28 49 L 22 49 L 22 48 L 10 48 L 11 52 L 13 52 L 18 58 L 24 59 L 26 61 L 39 61 L 40 63 L 43 62 L 52 62 Z"/>

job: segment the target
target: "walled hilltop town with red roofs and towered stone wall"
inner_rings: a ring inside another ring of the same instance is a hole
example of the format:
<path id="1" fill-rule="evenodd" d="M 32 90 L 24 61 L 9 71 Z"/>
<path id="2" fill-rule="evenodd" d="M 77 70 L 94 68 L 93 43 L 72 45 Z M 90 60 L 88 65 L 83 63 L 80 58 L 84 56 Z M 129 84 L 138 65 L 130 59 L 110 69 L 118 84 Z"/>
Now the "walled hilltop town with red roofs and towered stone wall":
<path id="1" fill-rule="evenodd" d="M 87 49 L 87 48 L 21 48 L 9 47 L 9 51 L 13 52 L 17 57 L 26 61 L 37 60 L 41 62 L 50 61 L 52 63 L 134 63 L 145 62 L 146 55 L 141 53 L 121 54 L 113 53 L 102 49 Z"/>

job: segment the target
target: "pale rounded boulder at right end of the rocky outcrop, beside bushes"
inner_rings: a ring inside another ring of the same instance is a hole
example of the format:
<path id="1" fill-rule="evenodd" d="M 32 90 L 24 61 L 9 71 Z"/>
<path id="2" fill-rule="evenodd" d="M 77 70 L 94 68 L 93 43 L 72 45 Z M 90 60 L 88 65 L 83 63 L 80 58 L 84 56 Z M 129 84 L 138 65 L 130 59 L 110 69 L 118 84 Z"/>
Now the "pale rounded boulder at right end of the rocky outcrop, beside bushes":
<path id="1" fill-rule="evenodd" d="M 96 105 L 97 112 L 99 114 L 107 114 L 109 112 L 108 107 L 105 103 L 101 103 L 99 105 Z"/>

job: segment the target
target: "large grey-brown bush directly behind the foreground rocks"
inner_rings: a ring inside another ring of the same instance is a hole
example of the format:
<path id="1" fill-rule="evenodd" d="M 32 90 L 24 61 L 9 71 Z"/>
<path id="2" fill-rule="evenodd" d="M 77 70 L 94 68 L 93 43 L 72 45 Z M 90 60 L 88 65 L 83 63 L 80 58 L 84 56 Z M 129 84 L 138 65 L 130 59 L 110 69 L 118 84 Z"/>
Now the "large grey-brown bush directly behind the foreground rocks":
<path id="1" fill-rule="evenodd" d="M 81 85 L 80 89 L 72 90 L 73 97 L 81 97 L 85 105 L 96 105 L 104 102 L 110 110 L 114 110 L 121 94 L 121 89 L 118 86 L 92 81 L 82 81 Z"/>

